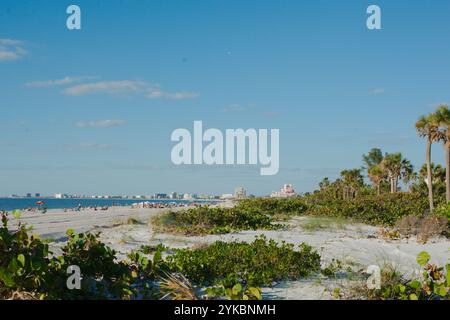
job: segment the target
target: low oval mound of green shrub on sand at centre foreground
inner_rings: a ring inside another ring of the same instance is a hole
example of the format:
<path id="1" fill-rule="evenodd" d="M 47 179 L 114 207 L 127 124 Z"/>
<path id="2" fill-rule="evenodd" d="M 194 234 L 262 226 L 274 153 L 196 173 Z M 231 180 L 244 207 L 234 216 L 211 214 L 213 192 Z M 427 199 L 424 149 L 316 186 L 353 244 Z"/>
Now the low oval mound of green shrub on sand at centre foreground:
<path id="1" fill-rule="evenodd" d="M 197 250 L 180 249 L 167 257 L 173 271 L 199 285 L 237 283 L 271 285 L 274 281 L 306 277 L 320 270 L 320 256 L 307 244 L 294 245 L 258 237 L 252 243 L 217 241 Z"/>

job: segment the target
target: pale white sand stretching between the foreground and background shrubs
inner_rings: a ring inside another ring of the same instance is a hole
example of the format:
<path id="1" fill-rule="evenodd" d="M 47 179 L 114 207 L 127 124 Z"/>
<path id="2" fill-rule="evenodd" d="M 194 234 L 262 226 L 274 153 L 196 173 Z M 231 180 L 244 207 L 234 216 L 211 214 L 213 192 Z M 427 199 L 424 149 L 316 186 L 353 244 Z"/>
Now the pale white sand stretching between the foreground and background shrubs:
<path id="1" fill-rule="evenodd" d="M 331 259 L 339 259 L 345 267 L 354 271 L 365 270 L 369 265 L 383 266 L 394 263 L 405 274 L 416 273 L 416 256 L 427 251 L 432 262 L 443 266 L 450 262 L 450 241 L 439 238 L 427 244 L 419 244 L 415 239 L 386 241 L 377 238 L 377 227 L 349 224 L 343 227 L 329 227 L 323 230 L 307 231 L 302 223 L 308 217 L 298 217 L 289 222 L 285 230 L 276 231 L 244 231 L 227 235 L 184 237 L 169 234 L 158 234 L 153 231 L 148 221 L 166 209 L 131 209 L 111 208 L 108 211 L 82 211 L 64 213 L 62 210 L 50 210 L 47 214 L 24 214 L 22 221 L 34 226 L 34 232 L 44 237 L 64 239 L 67 229 L 76 232 L 101 231 L 102 240 L 119 252 L 119 257 L 141 245 L 163 243 L 172 248 L 198 246 L 202 243 L 222 241 L 253 241 L 257 235 L 265 235 L 276 241 L 286 241 L 298 245 L 306 242 L 317 249 L 322 257 L 322 264 Z M 123 224 L 133 217 L 142 224 Z M 121 225 L 120 225 L 121 224 Z M 62 243 L 53 245 L 58 249 Z M 313 277 L 300 281 L 289 281 L 277 284 L 274 288 L 264 288 L 265 298 L 270 299 L 331 299 L 335 287 L 345 287 L 347 279 L 325 279 Z"/>

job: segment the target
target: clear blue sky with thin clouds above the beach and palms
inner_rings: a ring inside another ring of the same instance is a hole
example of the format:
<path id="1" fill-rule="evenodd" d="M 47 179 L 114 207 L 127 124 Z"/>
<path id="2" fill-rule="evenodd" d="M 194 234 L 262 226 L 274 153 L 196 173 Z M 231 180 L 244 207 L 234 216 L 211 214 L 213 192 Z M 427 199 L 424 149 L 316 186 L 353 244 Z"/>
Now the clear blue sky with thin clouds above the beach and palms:
<path id="1" fill-rule="evenodd" d="M 449 15 L 448 1 L 2 0 L 0 194 L 305 192 L 372 147 L 419 166 L 414 123 L 450 101 Z M 174 167 L 170 134 L 194 120 L 279 128 L 280 172 Z"/>

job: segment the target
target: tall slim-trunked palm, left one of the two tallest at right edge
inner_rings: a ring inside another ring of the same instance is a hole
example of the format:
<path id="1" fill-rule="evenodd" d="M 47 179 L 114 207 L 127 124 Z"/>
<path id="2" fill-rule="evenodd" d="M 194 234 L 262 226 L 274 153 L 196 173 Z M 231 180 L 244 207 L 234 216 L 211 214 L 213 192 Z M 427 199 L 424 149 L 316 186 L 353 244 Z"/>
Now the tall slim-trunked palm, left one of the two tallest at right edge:
<path id="1" fill-rule="evenodd" d="M 433 178 L 431 172 L 431 145 L 433 142 L 441 139 L 439 131 L 438 119 L 435 114 L 421 116 L 416 122 L 416 130 L 420 137 L 427 139 L 426 164 L 427 164 L 427 185 L 428 185 L 428 201 L 430 203 L 430 212 L 434 210 L 433 201 Z"/>

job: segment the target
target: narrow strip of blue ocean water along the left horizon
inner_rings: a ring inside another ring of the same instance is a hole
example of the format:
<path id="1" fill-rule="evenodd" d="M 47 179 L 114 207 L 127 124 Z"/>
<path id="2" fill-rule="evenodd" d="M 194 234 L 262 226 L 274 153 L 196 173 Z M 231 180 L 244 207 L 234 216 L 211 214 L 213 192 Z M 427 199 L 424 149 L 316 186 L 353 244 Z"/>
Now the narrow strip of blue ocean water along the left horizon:
<path id="1" fill-rule="evenodd" d="M 39 206 L 36 203 L 43 201 L 44 205 Z M 83 207 L 89 206 L 130 206 L 137 202 L 153 202 L 153 203 L 192 203 L 189 200 L 143 200 L 143 199 L 35 199 L 35 198 L 0 198 L 0 211 L 11 211 L 15 209 L 27 208 L 47 208 L 47 209 L 72 209 L 78 205 Z"/>

